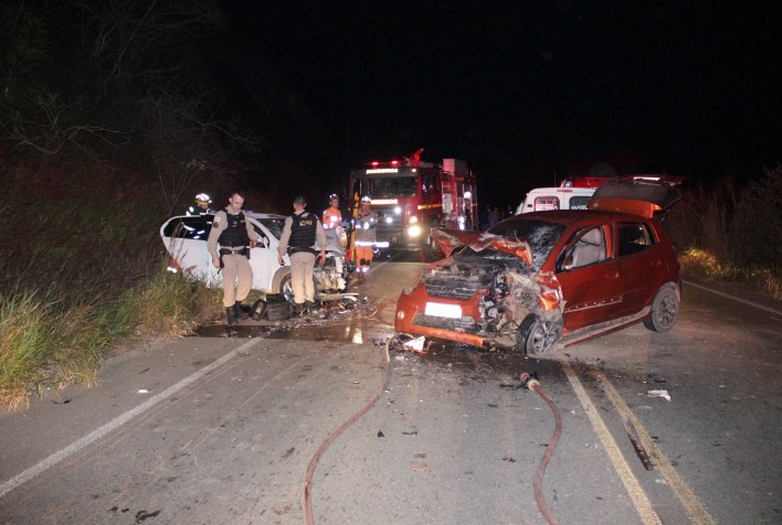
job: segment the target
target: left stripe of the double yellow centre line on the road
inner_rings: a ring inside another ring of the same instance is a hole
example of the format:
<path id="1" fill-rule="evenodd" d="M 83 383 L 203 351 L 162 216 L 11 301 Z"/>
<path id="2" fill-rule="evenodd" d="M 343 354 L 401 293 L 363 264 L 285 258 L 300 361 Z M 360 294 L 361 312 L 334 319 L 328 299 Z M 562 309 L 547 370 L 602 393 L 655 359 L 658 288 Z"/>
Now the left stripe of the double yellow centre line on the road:
<path id="1" fill-rule="evenodd" d="M 570 363 L 564 358 L 561 358 L 560 361 L 562 363 L 562 368 L 564 369 L 564 373 L 568 376 L 568 381 L 570 381 L 570 385 L 573 387 L 573 390 L 575 392 L 575 395 L 578 396 L 581 406 L 584 408 L 586 417 L 589 417 L 589 420 L 592 424 L 592 428 L 594 428 L 594 431 L 598 433 L 600 441 L 603 443 L 603 449 L 605 449 L 605 453 L 609 456 L 611 463 L 613 463 L 614 465 L 614 470 L 619 474 L 620 480 L 622 480 L 622 483 L 624 484 L 624 488 L 627 491 L 630 499 L 633 501 L 633 505 L 635 506 L 638 516 L 641 516 L 641 521 L 644 523 L 644 525 L 662 525 L 663 522 L 659 519 L 659 516 L 657 516 L 657 513 L 654 511 L 654 507 L 652 506 L 652 503 L 649 502 L 646 492 L 644 492 L 644 489 L 641 486 L 641 483 L 638 483 L 638 480 L 633 475 L 633 472 L 630 470 L 630 465 L 627 464 L 624 459 L 624 456 L 622 456 L 622 452 L 616 446 L 616 441 L 614 441 L 614 438 L 611 436 L 611 432 L 603 422 L 603 419 L 600 417 L 600 414 L 598 414 L 598 409 L 594 407 L 592 400 L 586 395 L 586 390 L 584 390 L 583 385 L 573 372 L 573 368 L 570 366 Z"/>

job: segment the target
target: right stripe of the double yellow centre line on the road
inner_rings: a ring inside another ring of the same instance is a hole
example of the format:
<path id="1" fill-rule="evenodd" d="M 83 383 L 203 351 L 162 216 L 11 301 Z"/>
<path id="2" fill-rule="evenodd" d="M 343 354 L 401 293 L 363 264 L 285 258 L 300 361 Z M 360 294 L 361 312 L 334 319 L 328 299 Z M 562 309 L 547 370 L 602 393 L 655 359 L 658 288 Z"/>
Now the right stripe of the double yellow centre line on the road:
<path id="1" fill-rule="evenodd" d="M 635 430 L 638 432 L 638 438 L 641 438 L 641 443 L 644 446 L 649 456 L 654 458 L 655 468 L 666 479 L 670 490 L 681 503 L 681 506 L 689 516 L 690 521 L 698 525 L 716 524 L 717 521 L 711 517 L 704 504 L 700 503 L 700 500 L 698 500 L 698 496 L 696 496 L 689 485 L 687 485 L 687 482 L 684 481 L 678 472 L 676 472 L 676 469 L 674 469 L 674 465 L 670 464 L 670 461 L 668 461 L 665 452 L 657 447 L 657 443 L 654 442 L 649 433 L 646 431 L 646 428 L 641 421 L 638 421 L 630 407 L 627 407 L 620 393 L 616 392 L 614 385 L 611 384 L 602 372 L 598 372 L 595 375 L 600 382 L 600 385 L 603 387 L 603 392 L 605 392 L 609 396 L 609 399 L 611 399 L 611 403 L 616 411 L 620 413 L 620 416 L 624 419 L 630 419 L 635 427 Z"/>

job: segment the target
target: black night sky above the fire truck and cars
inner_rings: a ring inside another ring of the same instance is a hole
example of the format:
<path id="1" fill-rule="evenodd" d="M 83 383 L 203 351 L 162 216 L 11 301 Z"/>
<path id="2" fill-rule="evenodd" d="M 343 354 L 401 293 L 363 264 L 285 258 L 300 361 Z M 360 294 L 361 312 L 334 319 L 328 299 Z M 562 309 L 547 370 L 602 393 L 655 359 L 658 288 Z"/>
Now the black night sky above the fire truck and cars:
<path id="1" fill-rule="evenodd" d="M 782 160 L 780 2 L 226 2 L 246 111 L 264 78 L 346 165 L 466 160 L 487 200 L 606 162 L 716 180 Z M 317 138 L 316 138 L 317 137 Z M 310 142 L 311 140 L 311 142 Z"/>

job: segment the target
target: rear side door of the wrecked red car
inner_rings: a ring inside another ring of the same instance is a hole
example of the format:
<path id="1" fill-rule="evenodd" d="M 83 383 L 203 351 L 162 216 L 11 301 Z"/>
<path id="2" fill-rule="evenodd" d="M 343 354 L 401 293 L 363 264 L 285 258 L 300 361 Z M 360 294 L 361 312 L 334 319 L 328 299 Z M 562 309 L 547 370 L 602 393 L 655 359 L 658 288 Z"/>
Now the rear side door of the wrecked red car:
<path id="1" fill-rule="evenodd" d="M 624 298 L 621 315 L 632 315 L 652 302 L 664 275 L 665 254 L 646 221 L 616 223 L 616 260 L 622 277 Z"/>

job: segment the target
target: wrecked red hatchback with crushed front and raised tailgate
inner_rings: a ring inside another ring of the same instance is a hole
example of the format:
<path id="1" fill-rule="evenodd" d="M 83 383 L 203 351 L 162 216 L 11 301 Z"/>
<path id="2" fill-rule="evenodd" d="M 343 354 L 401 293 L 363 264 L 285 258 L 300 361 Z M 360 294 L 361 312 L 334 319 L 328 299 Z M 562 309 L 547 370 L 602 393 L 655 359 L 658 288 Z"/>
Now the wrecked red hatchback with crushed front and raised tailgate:
<path id="1" fill-rule="evenodd" d="M 528 354 L 641 321 L 670 330 L 679 265 L 659 221 L 680 182 L 622 176 L 589 210 L 516 215 L 486 233 L 433 231 L 447 257 L 400 296 L 395 330 Z"/>

